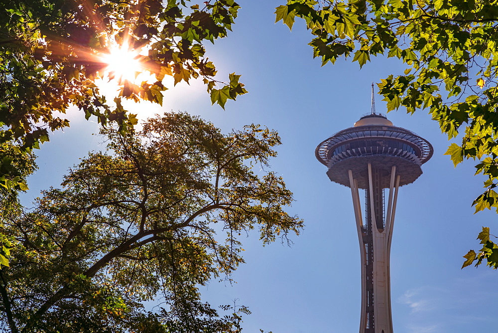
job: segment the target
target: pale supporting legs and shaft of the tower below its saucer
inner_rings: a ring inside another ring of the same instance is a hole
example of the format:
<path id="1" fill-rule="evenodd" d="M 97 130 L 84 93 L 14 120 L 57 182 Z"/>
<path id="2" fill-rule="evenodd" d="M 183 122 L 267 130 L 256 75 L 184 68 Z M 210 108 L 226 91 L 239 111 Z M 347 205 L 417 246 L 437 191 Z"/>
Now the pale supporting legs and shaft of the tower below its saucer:
<path id="1" fill-rule="evenodd" d="M 385 175 L 385 169 L 368 169 L 366 188 L 366 221 L 363 224 L 358 181 L 348 170 L 362 261 L 362 312 L 360 333 L 392 333 L 389 253 L 394 212 L 399 187 L 396 166 Z M 358 176 L 358 175 L 357 175 Z M 384 177 L 389 177 L 389 196 L 384 217 Z"/>

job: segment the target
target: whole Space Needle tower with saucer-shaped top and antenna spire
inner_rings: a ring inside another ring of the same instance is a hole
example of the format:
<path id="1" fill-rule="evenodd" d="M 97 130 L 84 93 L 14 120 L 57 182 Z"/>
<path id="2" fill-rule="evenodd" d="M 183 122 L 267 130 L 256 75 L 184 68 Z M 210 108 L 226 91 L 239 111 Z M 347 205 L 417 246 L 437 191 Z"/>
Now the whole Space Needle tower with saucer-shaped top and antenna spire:
<path id="1" fill-rule="evenodd" d="M 427 140 L 375 112 L 373 84 L 372 112 L 316 148 L 330 180 L 350 187 L 353 196 L 362 263 L 360 333 L 392 333 L 389 253 L 398 188 L 414 182 L 432 154 Z"/>

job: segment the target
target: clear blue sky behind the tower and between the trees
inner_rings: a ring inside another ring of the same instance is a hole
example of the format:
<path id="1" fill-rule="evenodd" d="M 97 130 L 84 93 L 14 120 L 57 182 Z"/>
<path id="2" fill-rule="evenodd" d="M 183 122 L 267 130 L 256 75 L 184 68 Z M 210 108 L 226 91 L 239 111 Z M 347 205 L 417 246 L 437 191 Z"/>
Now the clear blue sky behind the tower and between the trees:
<path id="1" fill-rule="evenodd" d="M 283 145 L 271 169 L 283 176 L 296 202 L 289 212 L 305 221 L 294 245 L 263 247 L 256 234 L 245 239 L 247 264 L 233 275 L 237 282 L 213 281 L 203 287 L 213 306 L 249 307 L 245 332 L 357 332 L 360 320 L 360 252 L 351 191 L 332 183 L 315 156 L 316 146 L 351 127 L 370 112 L 371 82 L 402 73 L 399 62 L 379 57 L 360 70 L 339 60 L 321 67 L 313 59 L 311 40 L 302 22 L 293 31 L 274 24 L 274 7 L 283 0 L 241 0 L 233 32 L 208 56 L 220 78 L 242 74 L 249 94 L 229 101 L 226 111 L 211 106 L 200 82 L 179 84 L 164 96 L 163 108 L 134 106 L 141 119 L 162 111 L 187 111 L 212 121 L 224 131 L 256 123 L 277 130 Z M 376 97 L 377 112 L 385 103 Z M 425 112 L 413 116 L 391 112 L 395 126 L 411 130 L 434 146 L 424 174 L 400 189 L 391 248 L 391 303 L 394 330 L 399 333 L 495 332 L 498 272 L 486 267 L 461 270 L 462 256 L 479 250 L 475 240 L 482 226 L 498 233 L 496 214 L 474 213 L 471 203 L 483 190 L 474 176 L 474 161 L 457 168 L 443 156 L 449 143 Z M 97 124 L 70 112 L 71 128 L 55 133 L 37 152 L 39 170 L 23 195 L 29 205 L 39 190 L 58 186 L 67 169 L 88 151 L 102 147 L 92 135 Z"/>

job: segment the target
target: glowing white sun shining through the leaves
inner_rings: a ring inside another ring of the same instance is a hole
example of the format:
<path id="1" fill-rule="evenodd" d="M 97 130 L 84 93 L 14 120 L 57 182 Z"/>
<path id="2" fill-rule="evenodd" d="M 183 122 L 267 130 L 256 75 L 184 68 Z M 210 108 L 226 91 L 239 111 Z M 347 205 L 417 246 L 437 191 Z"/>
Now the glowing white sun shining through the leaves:
<path id="1" fill-rule="evenodd" d="M 134 81 L 135 77 L 144 68 L 140 64 L 140 55 L 134 50 L 130 50 L 127 45 L 113 47 L 109 53 L 102 56 L 102 60 L 107 64 L 106 71 L 110 78 L 124 81 Z"/>

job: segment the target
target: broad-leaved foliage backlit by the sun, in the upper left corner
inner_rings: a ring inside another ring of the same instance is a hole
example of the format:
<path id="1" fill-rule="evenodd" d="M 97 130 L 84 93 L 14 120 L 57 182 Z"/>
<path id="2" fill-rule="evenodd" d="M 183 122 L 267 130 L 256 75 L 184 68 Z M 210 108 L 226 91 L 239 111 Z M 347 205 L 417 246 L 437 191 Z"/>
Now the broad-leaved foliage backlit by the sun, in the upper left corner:
<path id="1" fill-rule="evenodd" d="M 164 78 L 174 84 L 202 78 L 213 103 L 246 93 L 240 75 L 215 79 L 204 42 L 223 38 L 240 6 L 233 0 L 4 0 L 0 6 L 0 142 L 38 148 L 49 131 L 69 126 L 71 105 L 88 119 L 111 121 L 122 132 L 136 124 L 123 99 L 162 104 Z M 149 80 L 135 82 L 109 70 L 116 53 L 137 61 Z M 115 79 L 117 96 L 103 96 L 96 79 Z M 107 97 L 107 98 L 106 98 Z M 7 167 L 7 165 L 6 165 Z M 0 184 L 12 178 L 0 174 Z"/>

